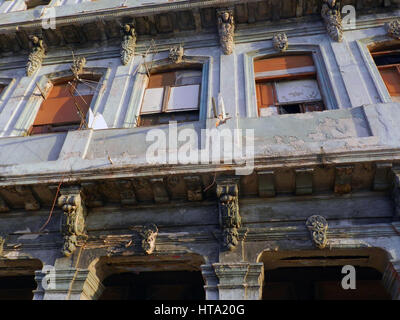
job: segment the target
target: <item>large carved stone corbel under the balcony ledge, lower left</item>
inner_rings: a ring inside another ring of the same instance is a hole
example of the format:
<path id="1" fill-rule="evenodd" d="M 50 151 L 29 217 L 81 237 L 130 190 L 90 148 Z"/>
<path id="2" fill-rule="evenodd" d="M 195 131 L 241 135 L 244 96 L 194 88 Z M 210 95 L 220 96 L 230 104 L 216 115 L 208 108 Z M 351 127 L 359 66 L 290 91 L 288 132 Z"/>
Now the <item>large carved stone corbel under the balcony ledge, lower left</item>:
<path id="1" fill-rule="evenodd" d="M 68 257 L 76 250 L 78 240 L 86 238 L 86 206 L 80 188 L 60 190 L 58 205 L 64 211 L 61 224 L 64 236 L 62 253 Z"/>

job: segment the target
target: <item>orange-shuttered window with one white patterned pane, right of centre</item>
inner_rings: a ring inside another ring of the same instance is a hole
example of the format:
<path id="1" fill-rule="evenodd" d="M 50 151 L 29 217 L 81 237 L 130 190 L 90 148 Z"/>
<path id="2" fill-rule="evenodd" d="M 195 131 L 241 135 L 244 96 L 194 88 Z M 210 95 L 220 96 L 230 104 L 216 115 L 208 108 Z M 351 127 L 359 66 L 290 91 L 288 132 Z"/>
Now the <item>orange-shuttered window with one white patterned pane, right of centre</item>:
<path id="1" fill-rule="evenodd" d="M 260 117 L 325 109 L 312 56 L 256 60 L 254 72 Z"/>

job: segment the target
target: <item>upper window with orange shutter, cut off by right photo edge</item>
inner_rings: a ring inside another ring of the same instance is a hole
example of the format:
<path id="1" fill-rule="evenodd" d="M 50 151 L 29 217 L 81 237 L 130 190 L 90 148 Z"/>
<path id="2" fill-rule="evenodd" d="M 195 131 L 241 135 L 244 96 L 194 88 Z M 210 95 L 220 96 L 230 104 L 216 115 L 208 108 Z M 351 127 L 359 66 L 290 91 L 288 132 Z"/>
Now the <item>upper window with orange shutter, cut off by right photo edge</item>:
<path id="1" fill-rule="evenodd" d="M 379 49 L 371 54 L 392 100 L 400 102 L 400 49 Z"/>

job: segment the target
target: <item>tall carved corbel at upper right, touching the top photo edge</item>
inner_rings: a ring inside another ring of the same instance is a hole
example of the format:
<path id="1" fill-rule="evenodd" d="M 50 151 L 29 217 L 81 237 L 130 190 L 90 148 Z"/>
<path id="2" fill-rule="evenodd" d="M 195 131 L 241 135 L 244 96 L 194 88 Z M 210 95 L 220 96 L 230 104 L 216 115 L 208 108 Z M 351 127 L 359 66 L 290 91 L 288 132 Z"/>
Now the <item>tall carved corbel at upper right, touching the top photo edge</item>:
<path id="1" fill-rule="evenodd" d="M 321 16 L 324 19 L 326 30 L 329 36 L 334 40 L 341 42 L 343 40 L 342 13 L 340 10 L 340 1 L 322 0 Z"/>

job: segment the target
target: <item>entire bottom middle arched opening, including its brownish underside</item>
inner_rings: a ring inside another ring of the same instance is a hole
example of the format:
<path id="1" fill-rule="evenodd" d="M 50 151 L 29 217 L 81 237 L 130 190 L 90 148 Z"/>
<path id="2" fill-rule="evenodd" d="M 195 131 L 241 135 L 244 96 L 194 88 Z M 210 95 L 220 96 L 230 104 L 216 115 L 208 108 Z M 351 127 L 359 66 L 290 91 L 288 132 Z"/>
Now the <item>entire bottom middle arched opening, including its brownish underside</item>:
<path id="1" fill-rule="evenodd" d="M 96 263 L 100 300 L 204 300 L 202 256 L 119 256 Z"/>

